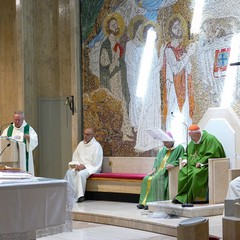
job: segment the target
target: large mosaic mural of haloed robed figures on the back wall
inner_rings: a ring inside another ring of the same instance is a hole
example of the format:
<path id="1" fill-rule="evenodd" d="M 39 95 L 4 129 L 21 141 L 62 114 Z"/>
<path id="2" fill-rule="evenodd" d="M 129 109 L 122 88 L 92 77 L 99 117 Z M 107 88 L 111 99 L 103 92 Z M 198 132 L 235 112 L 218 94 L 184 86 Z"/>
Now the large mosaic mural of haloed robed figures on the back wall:
<path id="1" fill-rule="evenodd" d="M 104 155 L 155 156 L 150 128 L 184 144 L 209 107 L 240 115 L 239 70 L 229 66 L 239 59 L 239 3 L 81 2 L 84 126 Z"/>

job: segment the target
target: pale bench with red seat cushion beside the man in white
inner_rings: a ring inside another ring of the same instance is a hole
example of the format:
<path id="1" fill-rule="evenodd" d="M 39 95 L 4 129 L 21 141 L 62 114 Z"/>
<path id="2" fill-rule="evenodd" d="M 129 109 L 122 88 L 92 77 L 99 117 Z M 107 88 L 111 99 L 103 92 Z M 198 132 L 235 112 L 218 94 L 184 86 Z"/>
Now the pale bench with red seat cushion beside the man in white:
<path id="1" fill-rule="evenodd" d="M 87 180 L 87 192 L 140 194 L 155 157 L 104 157 L 102 172 Z"/>

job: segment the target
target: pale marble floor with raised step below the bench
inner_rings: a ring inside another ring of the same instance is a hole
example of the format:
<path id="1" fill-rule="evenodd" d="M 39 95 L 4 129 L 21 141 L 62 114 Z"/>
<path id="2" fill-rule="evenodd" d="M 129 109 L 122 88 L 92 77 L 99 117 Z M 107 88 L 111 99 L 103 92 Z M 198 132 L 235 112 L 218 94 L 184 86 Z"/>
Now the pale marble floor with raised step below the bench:
<path id="1" fill-rule="evenodd" d="M 222 239 L 223 215 L 208 216 L 209 234 Z M 140 210 L 135 203 L 84 201 L 73 208 L 73 231 L 42 240 L 176 240 L 183 216 Z"/>

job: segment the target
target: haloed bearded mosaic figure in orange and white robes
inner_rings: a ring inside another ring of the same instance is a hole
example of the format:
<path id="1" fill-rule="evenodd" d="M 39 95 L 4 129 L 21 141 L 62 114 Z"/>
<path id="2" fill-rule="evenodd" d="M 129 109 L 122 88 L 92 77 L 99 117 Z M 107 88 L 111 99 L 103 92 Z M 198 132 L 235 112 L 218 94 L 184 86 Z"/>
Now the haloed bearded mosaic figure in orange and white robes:
<path id="1" fill-rule="evenodd" d="M 187 32 L 187 24 L 180 14 L 173 15 L 167 27 L 170 41 L 165 47 L 162 68 L 163 115 L 166 129 L 177 131 L 179 136 L 176 140 L 184 142 L 187 126 L 192 123 L 195 107 L 190 57 L 196 47 L 194 43 L 190 43 L 187 47 L 182 43 L 184 33 Z"/>

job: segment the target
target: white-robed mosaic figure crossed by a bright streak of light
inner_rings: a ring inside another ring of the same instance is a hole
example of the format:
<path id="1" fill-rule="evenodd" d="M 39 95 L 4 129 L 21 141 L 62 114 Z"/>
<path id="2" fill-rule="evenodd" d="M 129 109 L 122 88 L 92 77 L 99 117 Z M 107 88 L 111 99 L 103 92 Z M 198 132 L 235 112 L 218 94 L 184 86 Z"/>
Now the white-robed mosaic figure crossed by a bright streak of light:
<path id="1" fill-rule="evenodd" d="M 157 51 L 159 25 L 146 21 L 141 26 L 140 32 L 140 42 L 143 46 L 142 56 L 135 69 L 137 71 L 135 72 L 135 97 L 141 105 L 136 123 L 137 139 L 134 149 L 137 152 L 145 152 L 161 145 L 148 135 L 146 129 L 161 128 L 160 69 L 163 61 L 162 54 L 158 54 Z"/>

